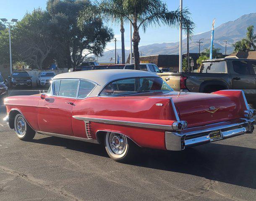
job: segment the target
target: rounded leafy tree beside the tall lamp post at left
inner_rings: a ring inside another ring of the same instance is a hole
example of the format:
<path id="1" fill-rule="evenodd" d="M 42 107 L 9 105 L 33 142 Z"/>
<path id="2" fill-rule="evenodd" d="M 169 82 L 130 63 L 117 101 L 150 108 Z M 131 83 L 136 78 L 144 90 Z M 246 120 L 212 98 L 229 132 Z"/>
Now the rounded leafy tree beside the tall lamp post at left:
<path id="1" fill-rule="evenodd" d="M 40 8 L 26 13 L 13 28 L 13 49 L 20 54 L 23 62 L 31 67 L 42 70 L 45 59 L 62 44 L 56 40 L 51 27 L 55 22 L 50 15 Z"/>

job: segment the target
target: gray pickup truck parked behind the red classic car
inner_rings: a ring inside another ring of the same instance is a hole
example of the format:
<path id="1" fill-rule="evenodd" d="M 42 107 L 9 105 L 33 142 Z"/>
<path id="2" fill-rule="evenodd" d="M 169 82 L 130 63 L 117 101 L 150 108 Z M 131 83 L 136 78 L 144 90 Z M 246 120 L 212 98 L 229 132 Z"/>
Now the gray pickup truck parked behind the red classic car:
<path id="1" fill-rule="evenodd" d="M 217 90 L 242 89 L 248 103 L 256 107 L 256 60 L 211 59 L 201 64 L 198 73 L 163 73 L 159 75 L 174 90 L 212 93 Z"/>

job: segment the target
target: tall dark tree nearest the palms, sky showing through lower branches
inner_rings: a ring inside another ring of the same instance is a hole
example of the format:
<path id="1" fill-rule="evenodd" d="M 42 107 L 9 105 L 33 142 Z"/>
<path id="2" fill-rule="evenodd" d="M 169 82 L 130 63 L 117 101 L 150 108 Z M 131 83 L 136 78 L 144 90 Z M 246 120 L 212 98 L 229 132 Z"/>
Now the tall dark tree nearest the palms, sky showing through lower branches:
<path id="1" fill-rule="evenodd" d="M 61 51 L 55 52 L 55 57 L 68 67 L 81 64 L 90 54 L 102 56 L 107 42 L 113 38 L 112 29 L 104 26 L 99 17 L 83 21 L 83 30 L 77 27 L 79 11 L 88 7 L 91 8 L 89 0 L 47 1 L 47 12 L 51 20 L 56 22 L 52 30 L 63 44 Z"/>

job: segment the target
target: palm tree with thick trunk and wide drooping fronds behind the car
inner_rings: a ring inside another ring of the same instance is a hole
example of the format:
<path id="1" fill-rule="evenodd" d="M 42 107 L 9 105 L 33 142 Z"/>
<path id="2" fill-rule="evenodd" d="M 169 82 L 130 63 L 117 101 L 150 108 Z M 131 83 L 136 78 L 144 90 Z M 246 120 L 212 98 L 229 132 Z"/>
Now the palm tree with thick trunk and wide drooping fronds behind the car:
<path id="1" fill-rule="evenodd" d="M 190 27 L 192 31 L 194 23 L 188 17 L 190 14 L 187 9 L 182 12 L 179 10 L 169 11 L 167 5 L 162 0 L 102 0 L 94 2 L 95 9 L 84 8 L 78 17 L 78 26 L 82 27 L 87 18 L 98 15 L 99 13 L 113 22 L 120 22 L 120 19 L 130 21 L 133 26 L 133 54 L 135 59 L 135 69 L 139 70 L 138 44 L 141 40 L 139 35 L 140 28 L 146 31 L 148 26 L 167 25 L 170 27 L 179 26 L 180 20 L 184 26 Z"/>

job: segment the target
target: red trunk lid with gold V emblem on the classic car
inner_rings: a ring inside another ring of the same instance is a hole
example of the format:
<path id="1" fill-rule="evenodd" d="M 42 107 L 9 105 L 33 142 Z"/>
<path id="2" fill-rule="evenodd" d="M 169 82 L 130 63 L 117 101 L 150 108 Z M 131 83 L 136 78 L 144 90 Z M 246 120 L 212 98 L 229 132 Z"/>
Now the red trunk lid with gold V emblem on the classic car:
<path id="1" fill-rule="evenodd" d="M 180 120 L 188 127 L 213 124 L 242 117 L 241 107 L 230 98 L 210 93 L 181 93 L 172 96 Z"/>

